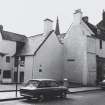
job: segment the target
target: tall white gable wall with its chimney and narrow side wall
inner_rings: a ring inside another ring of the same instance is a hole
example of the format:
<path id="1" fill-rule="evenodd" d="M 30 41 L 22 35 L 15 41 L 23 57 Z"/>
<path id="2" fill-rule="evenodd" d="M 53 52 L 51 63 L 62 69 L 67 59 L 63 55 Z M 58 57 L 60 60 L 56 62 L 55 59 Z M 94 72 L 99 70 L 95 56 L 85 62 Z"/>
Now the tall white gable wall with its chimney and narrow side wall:
<path id="1" fill-rule="evenodd" d="M 92 55 L 88 53 L 94 53 L 96 49 L 95 44 L 92 46 L 91 44 L 94 43 L 95 40 L 93 39 L 92 41 L 87 38 L 87 36 L 94 35 L 94 33 L 84 21 L 82 21 L 81 10 L 76 10 L 73 16 L 74 21 L 64 39 L 65 77 L 69 78 L 71 82 L 78 82 L 87 85 L 88 82 L 93 82 L 96 77 L 96 72 L 90 73 L 90 71 L 94 71 L 96 67 L 96 58 L 94 54 Z M 92 65 L 89 62 L 91 59 Z M 88 66 L 91 67 L 88 68 Z M 94 80 L 89 78 L 92 76 L 94 77 L 92 78 Z"/>

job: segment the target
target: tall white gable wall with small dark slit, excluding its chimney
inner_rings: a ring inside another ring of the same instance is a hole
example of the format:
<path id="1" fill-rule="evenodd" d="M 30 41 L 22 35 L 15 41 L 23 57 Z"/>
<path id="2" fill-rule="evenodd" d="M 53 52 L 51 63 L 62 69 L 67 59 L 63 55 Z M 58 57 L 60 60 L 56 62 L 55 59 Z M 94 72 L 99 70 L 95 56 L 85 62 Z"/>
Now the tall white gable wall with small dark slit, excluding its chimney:
<path id="1" fill-rule="evenodd" d="M 72 24 L 64 40 L 65 77 L 72 82 L 87 83 L 86 42 L 81 25 Z"/>

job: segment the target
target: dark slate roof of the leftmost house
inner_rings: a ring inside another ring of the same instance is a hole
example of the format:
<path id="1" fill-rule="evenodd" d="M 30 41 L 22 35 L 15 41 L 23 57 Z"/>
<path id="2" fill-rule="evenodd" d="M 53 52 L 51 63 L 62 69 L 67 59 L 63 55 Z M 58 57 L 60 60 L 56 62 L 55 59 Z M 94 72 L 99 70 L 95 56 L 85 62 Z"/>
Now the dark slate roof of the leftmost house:
<path id="1" fill-rule="evenodd" d="M 25 42 L 27 40 L 27 37 L 24 35 L 8 32 L 4 30 L 2 30 L 1 35 L 4 40 L 17 41 L 17 42 Z"/>

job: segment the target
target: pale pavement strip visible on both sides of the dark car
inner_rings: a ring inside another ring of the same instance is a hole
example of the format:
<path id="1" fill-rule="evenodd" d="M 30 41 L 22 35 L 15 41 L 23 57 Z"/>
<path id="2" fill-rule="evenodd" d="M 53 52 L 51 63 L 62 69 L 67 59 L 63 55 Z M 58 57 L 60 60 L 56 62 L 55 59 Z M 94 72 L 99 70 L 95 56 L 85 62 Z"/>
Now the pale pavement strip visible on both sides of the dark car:
<path id="1" fill-rule="evenodd" d="M 88 91 L 93 91 L 93 90 L 100 90 L 100 87 L 75 87 L 75 88 L 69 88 L 70 93 L 77 93 L 77 92 L 88 92 Z M 0 101 L 7 101 L 7 100 L 18 100 L 18 99 L 23 99 L 22 96 L 20 96 L 19 91 L 17 92 L 16 96 L 16 91 L 1 91 L 0 92 Z"/>

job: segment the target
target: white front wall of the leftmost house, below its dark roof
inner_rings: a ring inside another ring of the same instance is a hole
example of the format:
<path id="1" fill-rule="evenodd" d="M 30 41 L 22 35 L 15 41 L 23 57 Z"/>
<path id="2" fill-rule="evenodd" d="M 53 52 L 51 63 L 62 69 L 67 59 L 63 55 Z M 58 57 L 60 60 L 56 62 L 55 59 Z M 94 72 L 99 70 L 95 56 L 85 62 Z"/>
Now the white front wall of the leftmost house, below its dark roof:
<path id="1" fill-rule="evenodd" d="M 3 71 L 4 70 L 11 70 L 11 73 L 13 73 L 13 66 L 14 66 L 14 58 L 12 57 L 16 53 L 16 42 L 14 41 L 9 41 L 9 40 L 3 40 L 1 33 L 0 33 L 0 52 L 6 54 L 5 56 L 1 57 L 1 69 L 2 73 L 0 76 L 1 81 L 5 82 L 12 82 L 11 79 L 3 79 Z M 10 62 L 6 62 L 6 56 L 10 56 Z"/>

